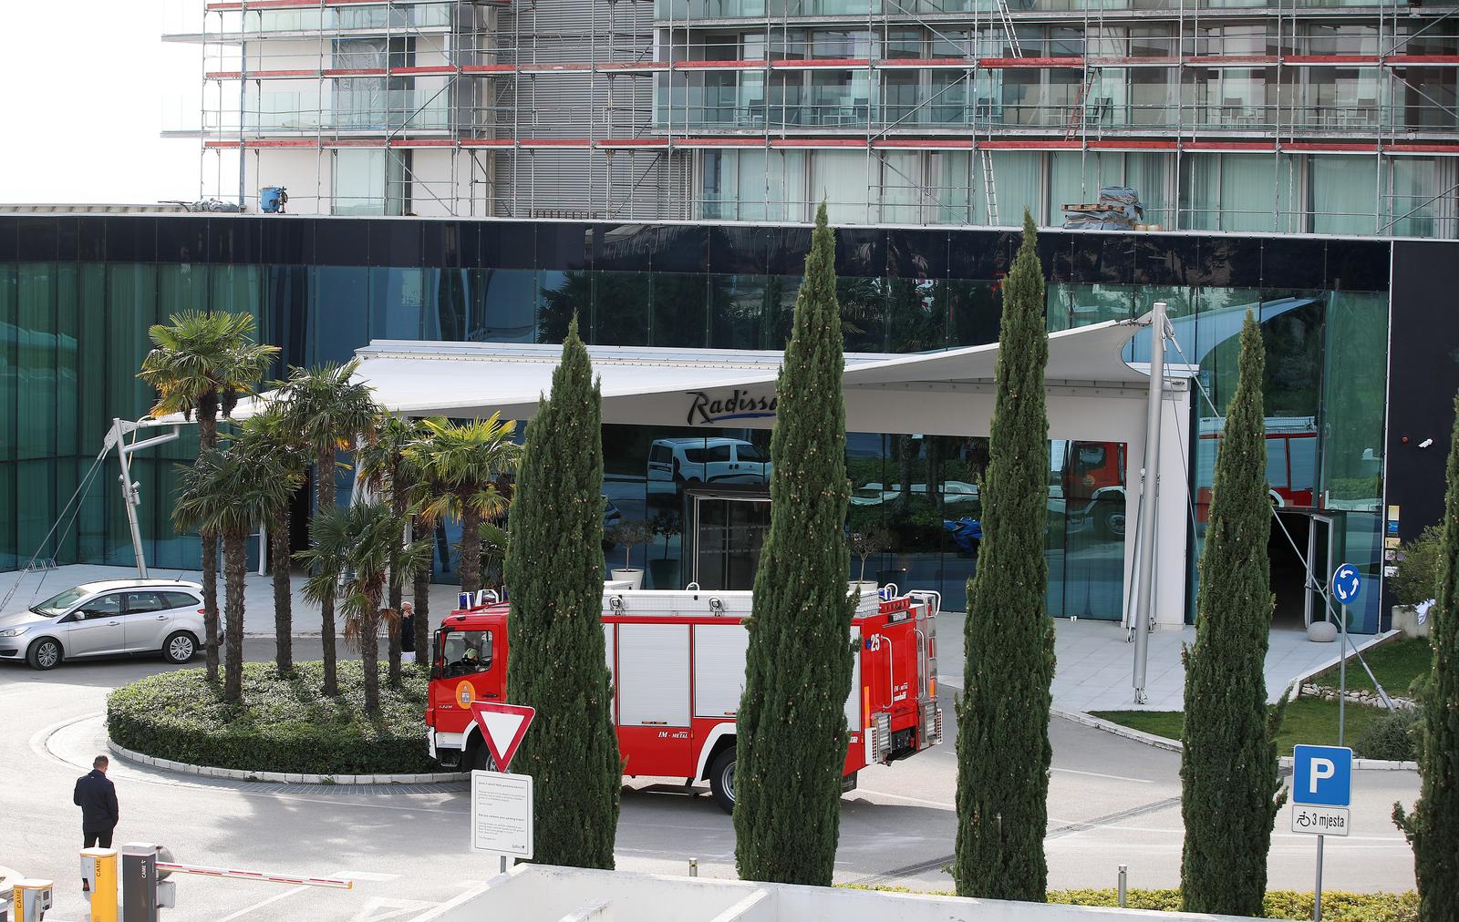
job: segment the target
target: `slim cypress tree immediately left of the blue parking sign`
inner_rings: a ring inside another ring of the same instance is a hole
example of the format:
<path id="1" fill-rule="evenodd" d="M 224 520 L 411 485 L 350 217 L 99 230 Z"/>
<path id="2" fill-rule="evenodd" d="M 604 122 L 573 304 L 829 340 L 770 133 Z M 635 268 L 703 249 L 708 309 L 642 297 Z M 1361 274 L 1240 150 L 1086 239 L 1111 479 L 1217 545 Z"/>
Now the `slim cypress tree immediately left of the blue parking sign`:
<path id="1" fill-rule="evenodd" d="M 1215 457 L 1195 646 L 1182 654 L 1180 902 L 1186 912 L 1262 915 L 1272 821 L 1285 801 L 1285 794 L 1278 797 L 1277 775 L 1281 708 L 1268 712 L 1262 674 L 1272 613 L 1265 369 L 1266 347 L 1247 312 L 1236 392 Z"/>

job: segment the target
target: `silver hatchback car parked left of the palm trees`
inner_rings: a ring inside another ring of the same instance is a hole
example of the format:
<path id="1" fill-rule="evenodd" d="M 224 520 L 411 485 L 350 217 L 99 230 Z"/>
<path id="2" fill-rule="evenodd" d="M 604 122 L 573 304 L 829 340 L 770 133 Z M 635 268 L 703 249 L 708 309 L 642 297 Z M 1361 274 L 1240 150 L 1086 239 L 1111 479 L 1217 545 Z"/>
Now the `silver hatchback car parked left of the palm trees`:
<path id="1" fill-rule="evenodd" d="M 0 661 L 54 670 L 61 659 L 155 654 L 187 662 L 201 636 L 203 586 L 196 582 L 86 582 L 0 616 Z"/>

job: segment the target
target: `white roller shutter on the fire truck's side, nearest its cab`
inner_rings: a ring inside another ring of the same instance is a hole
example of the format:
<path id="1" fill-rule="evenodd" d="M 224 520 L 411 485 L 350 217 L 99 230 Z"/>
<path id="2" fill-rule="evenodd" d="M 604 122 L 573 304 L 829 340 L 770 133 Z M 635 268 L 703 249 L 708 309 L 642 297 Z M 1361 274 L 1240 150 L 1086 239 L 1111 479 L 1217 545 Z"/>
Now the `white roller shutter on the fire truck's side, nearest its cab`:
<path id="1" fill-rule="evenodd" d="M 689 727 L 689 624 L 619 624 L 619 724 Z"/>

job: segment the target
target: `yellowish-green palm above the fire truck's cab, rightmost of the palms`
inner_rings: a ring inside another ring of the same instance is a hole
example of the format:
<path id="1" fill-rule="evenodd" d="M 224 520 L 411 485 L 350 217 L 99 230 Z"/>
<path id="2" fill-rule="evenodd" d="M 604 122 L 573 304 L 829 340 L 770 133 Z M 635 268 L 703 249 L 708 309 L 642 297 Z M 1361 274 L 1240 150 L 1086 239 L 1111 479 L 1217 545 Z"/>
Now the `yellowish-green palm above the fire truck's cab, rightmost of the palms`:
<path id="1" fill-rule="evenodd" d="M 480 525 L 506 512 L 506 481 L 521 457 L 521 445 L 511 441 L 516 423 L 503 423 L 500 417 L 493 413 L 490 419 L 463 425 L 426 419 L 422 420 L 425 436 L 406 448 L 406 457 L 420 470 L 425 484 L 422 515 L 427 521 L 449 516 L 461 522 L 461 589 L 465 592 L 481 588 Z"/>

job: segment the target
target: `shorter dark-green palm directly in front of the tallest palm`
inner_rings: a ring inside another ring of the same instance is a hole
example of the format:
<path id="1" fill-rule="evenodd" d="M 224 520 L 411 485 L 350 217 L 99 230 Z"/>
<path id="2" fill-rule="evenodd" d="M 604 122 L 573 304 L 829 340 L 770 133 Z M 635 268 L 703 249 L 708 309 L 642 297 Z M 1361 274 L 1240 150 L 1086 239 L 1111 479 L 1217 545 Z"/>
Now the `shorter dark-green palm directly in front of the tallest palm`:
<path id="1" fill-rule="evenodd" d="M 179 530 L 207 528 L 223 538 L 228 655 L 223 658 L 223 700 L 244 696 L 244 573 L 245 543 L 277 503 L 287 502 L 303 483 L 274 452 L 248 454 L 238 448 L 198 452 L 197 464 L 179 481 L 172 522 Z"/>

